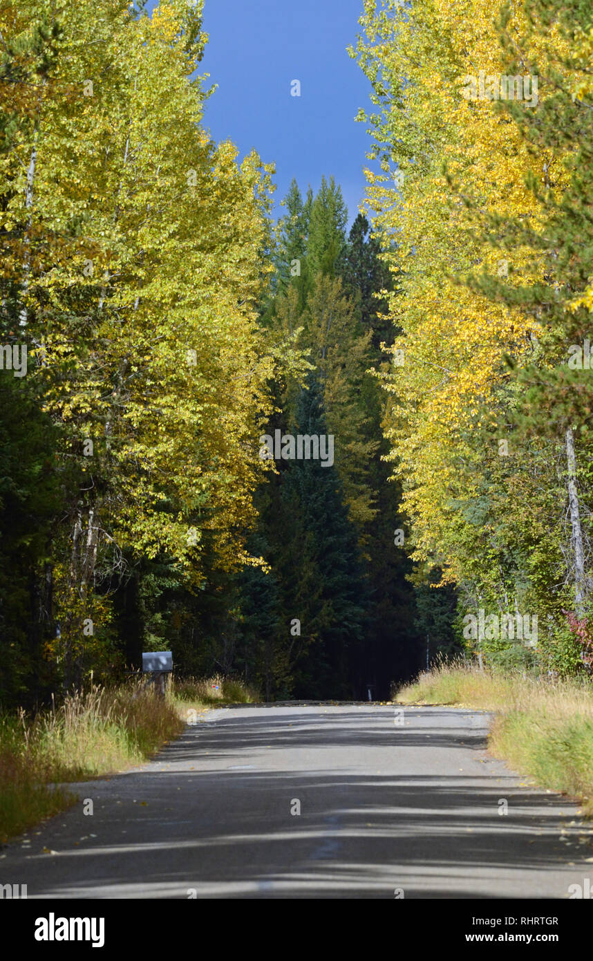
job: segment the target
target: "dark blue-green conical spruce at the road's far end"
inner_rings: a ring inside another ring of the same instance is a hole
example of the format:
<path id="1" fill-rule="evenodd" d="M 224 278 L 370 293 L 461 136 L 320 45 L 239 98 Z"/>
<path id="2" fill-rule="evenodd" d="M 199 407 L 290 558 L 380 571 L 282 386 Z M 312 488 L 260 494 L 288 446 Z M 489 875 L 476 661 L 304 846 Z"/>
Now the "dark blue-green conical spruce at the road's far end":
<path id="1" fill-rule="evenodd" d="M 321 387 L 313 375 L 298 400 L 295 431 L 327 433 Z M 301 630 L 291 653 L 294 694 L 351 695 L 353 653 L 364 636 L 368 594 L 335 467 L 313 459 L 287 461 L 281 500 L 286 526 L 276 568 L 288 623 L 297 619 Z"/>

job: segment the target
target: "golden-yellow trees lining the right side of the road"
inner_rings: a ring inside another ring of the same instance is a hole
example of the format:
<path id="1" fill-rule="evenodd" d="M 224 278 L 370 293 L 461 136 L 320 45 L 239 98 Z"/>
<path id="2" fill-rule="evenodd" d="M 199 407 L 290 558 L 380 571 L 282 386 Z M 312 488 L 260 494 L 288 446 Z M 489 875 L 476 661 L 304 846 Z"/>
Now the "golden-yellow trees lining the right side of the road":
<path id="1" fill-rule="evenodd" d="M 456 586 L 459 616 L 537 615 L 534 652 L 472 653 L 588 673 L 562 625 L 593 590 L 590 10 L 380 0 L 359 22 L 367 207 L 395 282 L 383 427 L 411 556 Z M 479 72 L 485 95 L 467 96 Z M 537 97 L 490 96 L 487 75 L 530 76 Z"/>

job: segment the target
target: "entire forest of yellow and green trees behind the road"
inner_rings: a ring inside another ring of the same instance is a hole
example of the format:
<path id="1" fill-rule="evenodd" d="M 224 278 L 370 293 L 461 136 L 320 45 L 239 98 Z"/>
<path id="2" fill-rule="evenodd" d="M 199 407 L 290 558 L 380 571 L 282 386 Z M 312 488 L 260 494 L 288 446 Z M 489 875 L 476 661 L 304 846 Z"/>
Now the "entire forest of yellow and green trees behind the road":
<path id="1" fill-rule="evenodd" d="M 366 198 L 274 218 L 201 2 L 0 0 L 2 705 L 590 674 L 590 0 L 361 4 Z"/>

